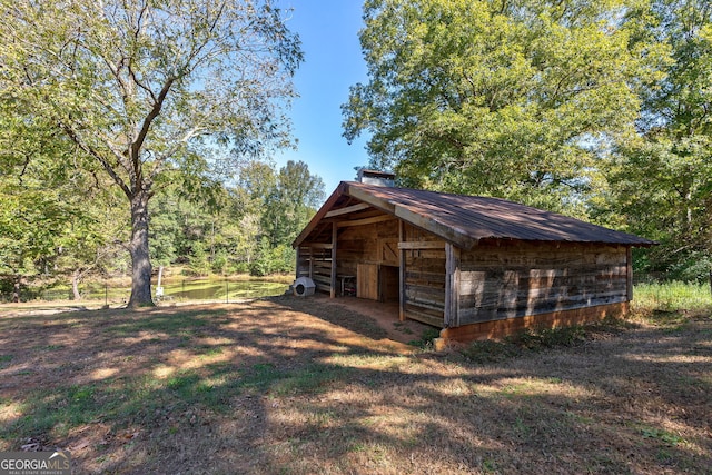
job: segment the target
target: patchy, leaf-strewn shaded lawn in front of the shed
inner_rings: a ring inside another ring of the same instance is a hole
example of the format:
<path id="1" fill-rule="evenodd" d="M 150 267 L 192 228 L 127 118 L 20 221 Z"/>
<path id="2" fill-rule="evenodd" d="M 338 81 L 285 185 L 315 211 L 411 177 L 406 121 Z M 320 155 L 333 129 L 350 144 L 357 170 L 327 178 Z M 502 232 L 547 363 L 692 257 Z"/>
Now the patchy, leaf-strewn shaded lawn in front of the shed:
<path id="1" fill-rule="evenodd" d="M 567 335 L 434 353 L 295 297 L 0 307 L 0 451 L 66 448 L 75 473 L 711 473 L 709 308 Z"/>

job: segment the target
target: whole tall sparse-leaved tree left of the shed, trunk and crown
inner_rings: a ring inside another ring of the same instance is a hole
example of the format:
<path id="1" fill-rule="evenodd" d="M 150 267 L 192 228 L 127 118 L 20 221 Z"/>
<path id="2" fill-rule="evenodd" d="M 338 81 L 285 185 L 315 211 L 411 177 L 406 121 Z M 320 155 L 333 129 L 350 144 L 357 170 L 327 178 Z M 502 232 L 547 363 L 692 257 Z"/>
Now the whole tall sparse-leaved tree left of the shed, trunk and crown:
<path id="1" fill-rule="evenodd" d="M 0 99 L 31 106 L 90 158 L 81 167 L 98 166 L 123 192 L 129 306 L 151 305 L 155 187 L 195 160 L 226 169 L 289 144 L 281 110 L 294 95 L 298 38 L 270 0 L 1 6 Z"/>

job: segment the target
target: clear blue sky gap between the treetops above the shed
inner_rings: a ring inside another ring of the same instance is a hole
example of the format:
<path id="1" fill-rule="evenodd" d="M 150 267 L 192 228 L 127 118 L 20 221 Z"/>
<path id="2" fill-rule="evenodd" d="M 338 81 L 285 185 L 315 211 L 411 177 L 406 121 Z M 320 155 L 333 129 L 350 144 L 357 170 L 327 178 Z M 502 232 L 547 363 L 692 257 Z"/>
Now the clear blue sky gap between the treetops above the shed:
<path id="1" fill-rule="evenodd" d="M 328 197 L 339 181 L 353 180 L 354 167 L 368 164 L 366 140 L 350 146 L 342 137 L 340 106 L 348 88 L 367 80 L 358 42 L 363 0 L 283 0 L 294 11 L 287 26 L 301 39 L 305 60 L 295 76 L 300 97 L 291 106 L 298 150 L 278 152 L 277 166 L 301 160 L 324 180 Z"/>

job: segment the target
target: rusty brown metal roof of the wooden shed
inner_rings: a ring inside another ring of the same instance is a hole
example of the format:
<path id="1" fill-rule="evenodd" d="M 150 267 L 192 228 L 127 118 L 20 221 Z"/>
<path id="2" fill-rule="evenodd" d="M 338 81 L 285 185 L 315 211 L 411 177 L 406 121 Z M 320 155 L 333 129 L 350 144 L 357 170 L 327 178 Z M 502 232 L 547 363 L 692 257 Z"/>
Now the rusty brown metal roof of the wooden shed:
<path id="1" fill-rule="evenodd" d="M 343 196 L 393 214 L 466 249 L 472 248 L 481 239 L 604 243 L 629 246 L 656 244 L 627 232 L 615 231 L 500 198 L 343 181 L 297 238 L 295 246 L 308 236 L 309 230 L 316 226 L 316 221 L 322 219 Z"/>

